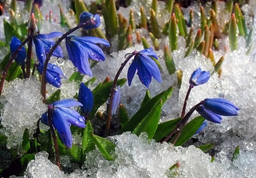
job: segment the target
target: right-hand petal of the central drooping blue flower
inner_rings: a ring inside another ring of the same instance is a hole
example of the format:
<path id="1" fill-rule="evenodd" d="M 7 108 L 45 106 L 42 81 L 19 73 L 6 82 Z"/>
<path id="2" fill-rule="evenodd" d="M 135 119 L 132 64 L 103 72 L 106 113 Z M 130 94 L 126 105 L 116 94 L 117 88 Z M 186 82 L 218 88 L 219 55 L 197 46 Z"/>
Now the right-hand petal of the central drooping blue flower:
<path id="1" fill-rule="evenodd" d="M 161 74 L 156 62 L 145 54 L 139 54 L 139 61 L 141 64 L 147 68 L 148 72 L 156 79 L 158 82 L 162 82 Z"/>

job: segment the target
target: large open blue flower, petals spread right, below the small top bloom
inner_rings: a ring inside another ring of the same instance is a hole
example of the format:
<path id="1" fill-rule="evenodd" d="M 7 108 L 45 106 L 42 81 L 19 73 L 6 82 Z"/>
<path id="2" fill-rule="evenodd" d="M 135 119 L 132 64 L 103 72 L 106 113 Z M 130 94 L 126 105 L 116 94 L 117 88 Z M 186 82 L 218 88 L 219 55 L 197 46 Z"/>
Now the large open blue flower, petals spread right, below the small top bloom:
<path id="1" fill-rule="evenodd" d="M 93 76 L 89 64 L 89 58 L 96 61 L 104 61 L 105 55 L 96 43 L 109 47 L 107 40 L 92 36 L 70 36 L 66 39 L 66 48 L 68 56 L 73 65 L 82 74 Z"/>

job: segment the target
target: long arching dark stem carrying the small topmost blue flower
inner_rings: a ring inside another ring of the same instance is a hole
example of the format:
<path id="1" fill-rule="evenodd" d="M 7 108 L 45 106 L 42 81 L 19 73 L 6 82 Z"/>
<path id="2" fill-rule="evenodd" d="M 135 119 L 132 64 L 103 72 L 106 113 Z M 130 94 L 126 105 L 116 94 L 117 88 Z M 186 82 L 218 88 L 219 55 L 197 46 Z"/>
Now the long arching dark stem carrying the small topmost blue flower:
<path id="1" fill-rule="evenodd" d="M 71 34 L 72 32 L 76 31 L 78 28 L 81 28 L 85 25 L 89 25 L 90 23 L 92 23 L 91 21 L 87 21 L 85 23 L 80 23 L 78 24 L 78 26 L 68 30 L 67 33 L 63 34 L 56 42 L 55 44 L 52 46 L 51 50 L 49 51 L 49 53 L 47 54 L 47 57 L 44 61 L 44 70 L 43 70 L 43 73 L 42 73 L 42 81 L 41 81 L 41 94 L 42 96 L 44 97 L 43 99 L 43 102 L 45 103 L 46 99 L 46 69 L 47 69 L 47 65 L 52 57 L 52 53 L 54 52 L 54 50 L 59 46 L 60 42 L 62 40 L 64 40 L 65 38 L 67 38 L 67 36 L 69 34 Z"/>

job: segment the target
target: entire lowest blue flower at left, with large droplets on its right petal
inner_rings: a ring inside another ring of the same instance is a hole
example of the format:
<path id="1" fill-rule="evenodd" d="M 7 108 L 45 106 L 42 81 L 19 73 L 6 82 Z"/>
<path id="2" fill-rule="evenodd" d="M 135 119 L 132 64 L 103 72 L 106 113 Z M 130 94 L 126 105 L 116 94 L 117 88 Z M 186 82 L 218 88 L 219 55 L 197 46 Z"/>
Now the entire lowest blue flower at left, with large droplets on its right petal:
<path id="1" fill-rule="evenodd" d="M 64 99 L 53 102 L 48 106 L 52 108 L 52 125 L 58 131 L 62 142 L 68 147 L 72 146 L 72 134 L 70 126 L 75 125 L 80 128 L 85 128 L 85 118 L 76 110 L 69 107 L 83 106 L 75 99 Z M 47 112 L 41 116 L 41 122 L 48 125 Z"/>

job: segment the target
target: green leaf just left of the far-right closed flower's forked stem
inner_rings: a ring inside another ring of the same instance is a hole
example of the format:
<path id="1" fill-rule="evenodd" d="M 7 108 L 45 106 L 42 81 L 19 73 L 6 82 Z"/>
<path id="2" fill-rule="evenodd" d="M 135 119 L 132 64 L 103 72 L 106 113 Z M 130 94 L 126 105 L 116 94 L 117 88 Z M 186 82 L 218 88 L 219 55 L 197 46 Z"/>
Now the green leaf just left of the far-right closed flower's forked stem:
<path id="1" fill-rule="evenodd" d="M 155 133 L 153 139 L 155 139 L 156 142 L 158 142 L 162 138 L 164 138 L 165 136 L 170 134 L 172 132 L 172 130 L 176 127 L 178 122 L 181 121 L 181 119 L 182 118 L 177 118 L 177 119 L 169 120 L 167 122 L 163 122 L 161 124 L 158 124 L 157 129 L 156 129 L 156 133 Z"/>

